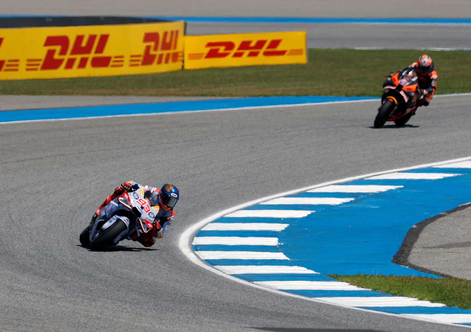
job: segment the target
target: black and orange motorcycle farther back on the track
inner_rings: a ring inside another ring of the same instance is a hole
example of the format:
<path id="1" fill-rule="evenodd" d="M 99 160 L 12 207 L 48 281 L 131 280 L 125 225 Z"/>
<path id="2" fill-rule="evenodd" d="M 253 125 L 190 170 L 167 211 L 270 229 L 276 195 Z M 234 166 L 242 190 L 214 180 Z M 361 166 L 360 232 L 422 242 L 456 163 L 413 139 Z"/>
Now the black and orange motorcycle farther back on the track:
<path id="1" fill-rule="evenodd" d="M 374 128 L 381 128 L 386 121 L 404 126 L 415 115 L 418 103 L 423 98 L 423 90 L 418 83 L 419 78 L 412 68 L 388 76 L 383 84 L 385 92 L 374 119 Z"/>

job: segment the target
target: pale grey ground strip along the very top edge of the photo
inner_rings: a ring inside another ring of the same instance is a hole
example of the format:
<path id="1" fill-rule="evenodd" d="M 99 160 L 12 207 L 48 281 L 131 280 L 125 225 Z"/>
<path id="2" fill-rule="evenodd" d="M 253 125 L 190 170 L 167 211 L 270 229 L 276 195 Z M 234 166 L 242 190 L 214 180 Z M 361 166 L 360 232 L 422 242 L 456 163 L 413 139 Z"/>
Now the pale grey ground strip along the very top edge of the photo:
<path id="1" fill-rule="evenodd" d="M 468 0 L 16 0 L 1 14 L 261 16 L 261 17 L 469 17 Z"/>

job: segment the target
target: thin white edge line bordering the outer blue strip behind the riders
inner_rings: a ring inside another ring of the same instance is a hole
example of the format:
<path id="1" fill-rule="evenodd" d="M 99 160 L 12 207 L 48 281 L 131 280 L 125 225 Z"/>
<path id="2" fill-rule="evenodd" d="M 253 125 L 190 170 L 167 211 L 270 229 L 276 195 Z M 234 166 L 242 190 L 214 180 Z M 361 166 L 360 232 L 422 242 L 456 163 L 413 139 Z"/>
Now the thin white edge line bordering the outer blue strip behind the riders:
<path id="1" fill-rule="evenodd" d="M 452 97 L 452 96 L 469 96 L 470 93 L 451 93 L 447 95 L 435 95 L 437 97 Z M 349 100 L 349 101 L 327 101 L 321 103 L 304 103 L 304 104 L 284 104 L 284 105 L 266 105 L 266 106 L 247 106 L 247 107 L 233 107 L 233 108 L 215 108 L 215 109 L 207 109 L 207 110 L 198 110 L 198 111 L 173 111 L 173 112 L 162 112 L 162 113 L 139 113 L 139 114 L 119 114 L 119 115 L 103 115 L 103 116 L 88 116 L 83 118 L 65 118 L 65 119 L 41 119 L 41 120 L 19 120 L 19 121 L 6 121 L 0 122 L 2 124 L 9 124 L 9 123 L 24 123 L 24 122 L 44 122 L 44 121 L 70 121 L 70 120 L 89 120 L 89 119 L 105 119 L 105 118 L 122 118 L 127 116 L 148 116 L 148 115 L 164 115 L 164 114 L 186 114 L 186 113 L 201 113 L 201 112 L 222 112 L 222 111 L 239 111 L 239 110 L 249 110 L 249 109 L 258 109 L 258 108 L 278 108 L 278 107 L 295 107 L 295 106 L 313 106 L 313 105 L 332 105 L 332 104 L 345 104 L 345 103 L 364 103 L 370 101 L 378 101 L 381 98 L 375 99 L 361 99 L 361 100 Z M 121 104 L 121 105 L 135 105 L 135 104 Z M 100 105 L 96 106 L 83 106 L 83 107 L 99 107 Z M 106 105 L 106 106 L 114 106 L 114 105 Z M 119 104 L 117 105 L 119 106 Z M 79 106 L 77 106 L 79 107 Z M 47 109 L 47 108 L 41 108 Z M 25 110 L 8 110 L 8 111 L 25 111 Z M 8 112 L 5 111 L 5 112 Z M 0 111 L 3 112 L 3 111 Z"/>

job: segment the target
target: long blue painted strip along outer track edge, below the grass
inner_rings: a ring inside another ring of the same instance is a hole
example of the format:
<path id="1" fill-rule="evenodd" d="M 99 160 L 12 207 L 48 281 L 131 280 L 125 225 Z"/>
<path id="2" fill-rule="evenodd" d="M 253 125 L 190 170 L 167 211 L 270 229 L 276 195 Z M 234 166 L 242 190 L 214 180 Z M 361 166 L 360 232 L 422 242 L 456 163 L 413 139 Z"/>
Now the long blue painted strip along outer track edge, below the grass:
<path id="1" fill-rule="evenodd" d="M 378 98 L 329 96 L 249 97 L 130 105 L 102 105 L 87 107 L 0 111 L 0 123 L 12 121 L 59 120 L 117 115 L 158 114 L 169 112 L 211 111 L 244 107 L 250 108 L 278 105 L 320 104 L 328 102 L 348 102 L 374 99 Z"/>

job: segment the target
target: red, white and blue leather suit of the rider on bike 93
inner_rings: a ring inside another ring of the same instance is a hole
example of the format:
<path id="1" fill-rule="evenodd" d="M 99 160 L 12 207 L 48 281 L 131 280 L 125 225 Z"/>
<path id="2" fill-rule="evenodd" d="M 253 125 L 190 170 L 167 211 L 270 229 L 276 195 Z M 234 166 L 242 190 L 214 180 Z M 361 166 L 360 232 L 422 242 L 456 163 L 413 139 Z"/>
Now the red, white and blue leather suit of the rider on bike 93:
<path id="1" fill-rule="evenodd" d="M 142 185 L 139 185 L 137 182 L 132 181 L 132 180 L 128 181 L 127 183 L 129 183 L 132 186 L 132 189 L 128 189 L 126 191 L 133 192 L 133 191 L 136 191 L 136 190 L 143 190 L 144 191 L 143 196 L 145 198 L 149 197 L 154 192 L 160 193 L 160 190 L 153 187 L 153 186 L 142 186 Z M 106 197 L 106 200 L 100 205 L 100 207 L 97 209 L 97 211 L 95 211 L 95 215 L 99 215 L 100 210 L 103 207 L 105 207 L 106 205 L 108 205 L 109 202 L 113 201 L 116 197 L 122 195 L 124 190 L 125 189 L 122 186 L 118 186 L 116 189 L 114 189 L 114 193 L 109 195 L 108 197 Z M 145 247 L 150 247 L 150 246 L 154 245 L 154 243 L 157 241 L 158 238 L 159 239 L 162 238 L 162 236 L 165 233 L 167 227 L 169 227 L 170 224 L 172 223 L 172 221 L 175 217 L 175 212 L 173 211 L 173 209 L 169 209 L 167 207 L 162 207 L 162 204 L 161 204 L 160 200 L 159 200 L 158 204 L 154 205 L 154 206 L 152 206 L 150 200 L 147 199 L 147 201 L 149 202 L 149 205 L 152 207 L 152 209 L 154 209 L 154 214 L 155 214 L 155 219 L 154 220 L 156 220 L 160 223 L 161 228 L 159 230 L 152 229 L 147 234 L 135 233 L 134 235 L 131 236 L 131 240 L 138 241 L 139 243 L 141 243 Z"/>

